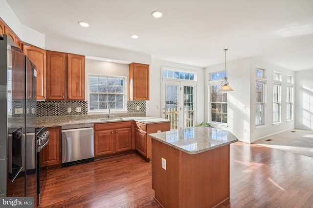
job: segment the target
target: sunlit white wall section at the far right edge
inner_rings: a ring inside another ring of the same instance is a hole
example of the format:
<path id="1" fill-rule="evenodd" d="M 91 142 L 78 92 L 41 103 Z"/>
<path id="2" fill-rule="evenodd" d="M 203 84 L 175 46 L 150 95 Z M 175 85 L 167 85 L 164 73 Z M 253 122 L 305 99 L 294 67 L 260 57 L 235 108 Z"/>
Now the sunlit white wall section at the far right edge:
<path id="1" fill-rule="evenodd" d="M 313 70 L 295 73 L 296 129 L 313 130 Z"/>

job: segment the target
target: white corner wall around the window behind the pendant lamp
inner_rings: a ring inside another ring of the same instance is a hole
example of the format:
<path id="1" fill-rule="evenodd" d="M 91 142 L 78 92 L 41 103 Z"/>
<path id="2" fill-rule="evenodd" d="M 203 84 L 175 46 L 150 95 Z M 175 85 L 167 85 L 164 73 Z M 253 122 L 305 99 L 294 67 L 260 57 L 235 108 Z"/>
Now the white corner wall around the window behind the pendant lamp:
<path id="1" fill-rule="evenodd" d="M 210 123 L 210 95 L 209 85 L 210 73 L 225 70 L 225 64 L 205 68 L 205 121 Z M 250 78 L 249 59 L 240 59 L 226 63 L 229 86 L 234 90 L 227 93 L 227 124 L 226 128 L 232 132 L 240 141 L 249 142 L 249 114 L 250 114 Z M 220 82 L 219 82 L 220 83 Z M 243 107 L 246 107 L 246 110 Z M 224 128 L 223 128 L 224 129 Z M 246 129 L 246 133 L 244 133 Z"/>

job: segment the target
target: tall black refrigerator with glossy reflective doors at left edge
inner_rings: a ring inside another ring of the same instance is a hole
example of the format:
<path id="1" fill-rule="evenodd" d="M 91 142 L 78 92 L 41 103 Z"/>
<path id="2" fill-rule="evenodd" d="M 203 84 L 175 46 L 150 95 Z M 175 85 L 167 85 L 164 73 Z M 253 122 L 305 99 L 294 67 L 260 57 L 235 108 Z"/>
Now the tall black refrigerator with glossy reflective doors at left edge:
<path id="1" fill-rule="evenodd" d="M 37 197 L 36 66 L 0 36 L 0 197 Z"/>

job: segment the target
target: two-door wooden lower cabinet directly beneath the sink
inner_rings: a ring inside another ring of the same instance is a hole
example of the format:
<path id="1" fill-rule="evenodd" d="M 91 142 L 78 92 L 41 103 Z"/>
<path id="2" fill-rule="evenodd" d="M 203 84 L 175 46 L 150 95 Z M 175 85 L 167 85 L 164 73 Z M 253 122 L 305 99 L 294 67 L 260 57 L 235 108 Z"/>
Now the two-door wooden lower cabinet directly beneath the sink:
<path id="1" fill-rule="evenodd" d="M 133 122 L 94 124 L 94 156 L 134 150 Z"/>

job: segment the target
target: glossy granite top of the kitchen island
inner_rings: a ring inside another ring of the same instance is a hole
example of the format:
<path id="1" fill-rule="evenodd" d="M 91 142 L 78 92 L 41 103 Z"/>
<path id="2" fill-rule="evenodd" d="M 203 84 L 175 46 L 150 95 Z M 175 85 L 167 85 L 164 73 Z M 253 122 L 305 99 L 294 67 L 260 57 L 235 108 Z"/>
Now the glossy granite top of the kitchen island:
<path id="1" fill-rule="evenodd" d="M 202 126 L 150 133 L 149 136 L 188 154 L 209 151 L 238 141 L 231 132 Z"/>

